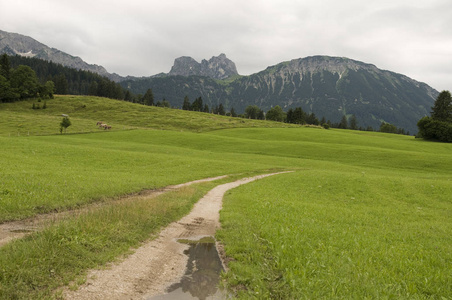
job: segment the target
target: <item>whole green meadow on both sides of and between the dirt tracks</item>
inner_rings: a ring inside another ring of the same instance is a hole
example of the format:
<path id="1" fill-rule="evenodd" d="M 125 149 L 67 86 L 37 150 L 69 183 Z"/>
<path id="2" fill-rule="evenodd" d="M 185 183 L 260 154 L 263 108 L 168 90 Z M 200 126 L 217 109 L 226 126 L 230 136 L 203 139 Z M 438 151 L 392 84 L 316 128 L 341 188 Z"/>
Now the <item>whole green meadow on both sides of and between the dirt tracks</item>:
<path id="1" fill-rule="evenodd" d="M 0 222 L 105 205 L 0 248 L 1 298 L 59 297 L 58 287 L 76 288 L 86 270 L 152 238 L 216 184 L 282 170 L 294 172 L 224 199 L 217 238 L 235 296 L 452 298 L 451 144 L 96 97 L 32 104 L 0 104 Z M 112 201 L 219 175 L 229 177 Z"/>

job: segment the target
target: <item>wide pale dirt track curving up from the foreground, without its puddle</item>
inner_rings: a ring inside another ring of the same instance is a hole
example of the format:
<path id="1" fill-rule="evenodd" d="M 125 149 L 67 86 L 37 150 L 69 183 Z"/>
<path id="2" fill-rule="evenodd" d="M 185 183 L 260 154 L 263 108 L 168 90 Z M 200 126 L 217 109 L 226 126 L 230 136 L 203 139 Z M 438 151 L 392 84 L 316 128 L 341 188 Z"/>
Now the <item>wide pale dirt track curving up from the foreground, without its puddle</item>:
<path id="1" fill-rule="evenodd" d="M 193 210 L 166 227 L 156 240 L 108 269 L 92 270 L 77 291 L 64 291 L 65 299 L 148 299 L 165 289 L 185 272 L 187 245 L 178 238 L 197 239 L 215 235 L 220 226 L 223 195 L 242 184 L 281 173 L 259 175 L 219 185 L 199 200 Z"/>

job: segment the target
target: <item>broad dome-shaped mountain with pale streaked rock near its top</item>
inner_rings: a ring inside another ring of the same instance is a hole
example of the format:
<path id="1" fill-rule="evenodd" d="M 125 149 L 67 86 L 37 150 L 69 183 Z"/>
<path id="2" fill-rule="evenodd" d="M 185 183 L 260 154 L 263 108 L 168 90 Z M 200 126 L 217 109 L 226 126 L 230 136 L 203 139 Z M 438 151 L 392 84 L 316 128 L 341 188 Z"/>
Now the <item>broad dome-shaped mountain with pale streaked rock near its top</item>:
<path id="1" fill-rule="evenodd" d="M 301 106 L 334 122 L 354 114 L 364 128 L 388 122 L 411 133 L 417 131 L 417 121 L 430 113 L 438 95 L 427 84 L 405 75 L 328 56 L 280 63 L 233 85 L 238 91 L 235 98 L 254 98 L 261 107 Z"/>

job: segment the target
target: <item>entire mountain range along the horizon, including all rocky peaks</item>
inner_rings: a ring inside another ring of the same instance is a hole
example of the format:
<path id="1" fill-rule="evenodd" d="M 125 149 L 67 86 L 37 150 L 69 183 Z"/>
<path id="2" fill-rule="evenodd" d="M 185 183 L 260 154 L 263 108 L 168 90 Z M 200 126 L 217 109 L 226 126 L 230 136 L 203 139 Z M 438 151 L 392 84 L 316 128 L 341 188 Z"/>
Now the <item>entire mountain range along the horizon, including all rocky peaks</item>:
<path id="1" fill-rule="evenodd" d="M 150 77 L 121 77 L 105 68 L 90 65 L 20 34 L 0 31 L 0 54 L 22 55 L 60 63 L 101 74 L 134 93 L 152 89 L 155 99 L 166 99 L 181 107 L 188 96 L 202 97 L 210 107 L 243 112 L 248 105 L 264 111 L 276 105 L 285 111 L 302 107 L 307 113 L 339 122 L 355 115 L 358 126 L 379 128 L 391 123 L 411 133 L 417 121 L 430 114 L 438 91 L 405 75 L 344 57 L 312 56 L 293 59 L 267 69 L 240 76 L 225 54 L 198 63 L 191 57 L 175 59 L 169 73 Z"/>

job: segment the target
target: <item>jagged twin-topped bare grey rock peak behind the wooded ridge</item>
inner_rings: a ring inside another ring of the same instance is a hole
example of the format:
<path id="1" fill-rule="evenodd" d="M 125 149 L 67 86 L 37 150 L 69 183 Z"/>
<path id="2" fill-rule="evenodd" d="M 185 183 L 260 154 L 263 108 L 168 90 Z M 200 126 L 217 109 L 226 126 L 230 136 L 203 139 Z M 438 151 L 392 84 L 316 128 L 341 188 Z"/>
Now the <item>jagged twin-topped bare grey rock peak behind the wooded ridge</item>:
<path id="1" fill-rule="evenodd" d="M 224 53 L 213 56 L 209 60 L 203 59 L 201 63 L 189 56 L 182 56 L 174 60 L 174 65 L 168 73 L 170 76 L 206 76 L 213 79 L 225 79 L 237 75 L 237 68 L 233 61 Z"/>

